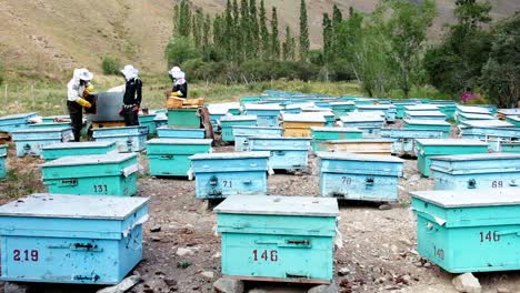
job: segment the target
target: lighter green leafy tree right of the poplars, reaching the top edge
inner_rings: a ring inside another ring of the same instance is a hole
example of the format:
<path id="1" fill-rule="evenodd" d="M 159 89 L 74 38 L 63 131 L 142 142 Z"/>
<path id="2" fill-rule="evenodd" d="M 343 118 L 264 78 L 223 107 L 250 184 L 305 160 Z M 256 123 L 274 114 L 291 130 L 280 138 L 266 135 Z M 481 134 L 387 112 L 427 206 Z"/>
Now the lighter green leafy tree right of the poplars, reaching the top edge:
<path id="1" fill-rule="evenodd" d="M 389 7 L 392 13 L 386 26 L 391 60 L 397 73 L 397 84 L 408 98 L 412 85 L 419 80 L 427 30 L 436 17 L 436 3 L 433 0 L 421 3 L 393 0 Z"/>

